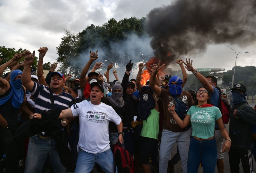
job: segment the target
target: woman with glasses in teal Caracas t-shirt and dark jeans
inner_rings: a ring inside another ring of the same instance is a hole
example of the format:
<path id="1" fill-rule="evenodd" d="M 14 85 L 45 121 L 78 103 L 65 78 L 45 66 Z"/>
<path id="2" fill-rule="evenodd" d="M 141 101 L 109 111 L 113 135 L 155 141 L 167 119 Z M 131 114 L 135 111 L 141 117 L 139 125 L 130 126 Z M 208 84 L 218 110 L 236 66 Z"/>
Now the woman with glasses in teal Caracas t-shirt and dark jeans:
<path id="1" fill-rule="evenodd" d="M 222 136 L 226 139 L 222 146 L 222 152 L 229 152 L 231 140 L 224 128 L 221 111 L 210 102 L 208 89 L 202 86 L 197 90 L 195 104 L 190 107 L 183 121 L 174 109 L 174 107 L 168 108 L 176 123 L 181 128 L 185 128 L 191 123 L 193 129 L 187 158 L 187 173 L 197 173 L 201 161 L 203 172 L 214 173 L 217 162 L 217 144 L 214 137 L 215 121 Z"/>

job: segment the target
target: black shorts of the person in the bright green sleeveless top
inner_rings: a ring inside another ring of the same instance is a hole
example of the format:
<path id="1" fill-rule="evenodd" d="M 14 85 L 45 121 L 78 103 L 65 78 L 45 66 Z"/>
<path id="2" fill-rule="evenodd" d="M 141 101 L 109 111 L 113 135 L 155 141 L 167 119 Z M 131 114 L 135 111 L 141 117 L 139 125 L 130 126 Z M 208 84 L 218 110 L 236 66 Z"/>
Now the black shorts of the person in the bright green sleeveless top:
<path id="1" fill-rule="evenodd" d="M 139 138 L 139 163 L 148 165 L 149 157 L 157 139 L 140 136 Z"/>

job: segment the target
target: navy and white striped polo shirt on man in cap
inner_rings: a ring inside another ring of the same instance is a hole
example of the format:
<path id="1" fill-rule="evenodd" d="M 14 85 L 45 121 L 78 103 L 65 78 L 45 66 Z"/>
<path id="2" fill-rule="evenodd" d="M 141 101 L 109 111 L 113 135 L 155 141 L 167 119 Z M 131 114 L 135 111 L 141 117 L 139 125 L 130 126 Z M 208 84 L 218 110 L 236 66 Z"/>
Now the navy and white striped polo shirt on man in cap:
<path id="1" fill-rule="evenodd" d="M 50 92 L 52 91 L 47 86 L 34 82 L 31 94 L 35 99 L 35 113 L 40 113 L 42 110 L 52 109 Z M 73 100 L 73 97 L 63 89 L 60 94 L 55 94 L 53 92 L 53 100 L 54 109 L 59 108 L 64 110 L 69 108 L 69 103 Z"/>

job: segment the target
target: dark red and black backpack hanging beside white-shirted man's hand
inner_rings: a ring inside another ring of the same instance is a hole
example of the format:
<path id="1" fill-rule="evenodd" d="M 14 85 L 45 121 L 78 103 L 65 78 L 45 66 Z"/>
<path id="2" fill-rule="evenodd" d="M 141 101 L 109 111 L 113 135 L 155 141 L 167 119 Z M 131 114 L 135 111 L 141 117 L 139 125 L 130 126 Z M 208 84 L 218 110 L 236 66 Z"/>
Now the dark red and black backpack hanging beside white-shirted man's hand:
<path id="1" fill-rule="evenodd" d="M 122 144 L 114 144 L 114 160 L 118 173 L 134 173 L 133 157 L 122 147 Z"/>

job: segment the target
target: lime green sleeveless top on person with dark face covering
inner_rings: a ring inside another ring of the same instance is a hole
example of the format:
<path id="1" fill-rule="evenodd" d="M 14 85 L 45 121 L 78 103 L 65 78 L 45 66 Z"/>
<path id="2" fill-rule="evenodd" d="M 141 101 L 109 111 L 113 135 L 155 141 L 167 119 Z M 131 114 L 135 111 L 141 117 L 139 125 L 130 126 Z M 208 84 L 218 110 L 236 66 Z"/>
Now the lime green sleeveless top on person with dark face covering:
<path id="1" fill-rule="evenodd" d="M 150 110 L 148 119 L 143 120 L 143 127 L 140 136 L 158 139 L 159 133 L 159 112 L 155 109 Z"/>

